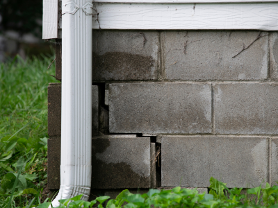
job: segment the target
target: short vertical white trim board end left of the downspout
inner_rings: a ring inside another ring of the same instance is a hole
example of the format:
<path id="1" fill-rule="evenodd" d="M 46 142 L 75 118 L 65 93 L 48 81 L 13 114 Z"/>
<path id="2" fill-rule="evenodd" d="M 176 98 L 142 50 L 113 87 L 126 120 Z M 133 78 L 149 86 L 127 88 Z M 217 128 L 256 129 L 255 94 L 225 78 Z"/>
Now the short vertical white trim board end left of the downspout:
<path id="1" fill-rule="evenodd" d="M 42 39 L 57 38 L 58 0 L 43 0 Z"/>

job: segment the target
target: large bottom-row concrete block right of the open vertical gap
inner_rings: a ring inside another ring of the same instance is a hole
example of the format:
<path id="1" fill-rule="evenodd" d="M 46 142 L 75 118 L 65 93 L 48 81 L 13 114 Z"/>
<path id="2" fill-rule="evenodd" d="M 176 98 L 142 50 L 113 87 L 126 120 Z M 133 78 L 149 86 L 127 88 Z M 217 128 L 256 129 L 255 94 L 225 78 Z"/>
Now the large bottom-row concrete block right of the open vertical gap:
<path id="1" fill-rule="evenodd" d="M 163 136 L 162 187 L 209 187 L 210 177 L 227 187 L 268 182 L 268 138 Z"/>

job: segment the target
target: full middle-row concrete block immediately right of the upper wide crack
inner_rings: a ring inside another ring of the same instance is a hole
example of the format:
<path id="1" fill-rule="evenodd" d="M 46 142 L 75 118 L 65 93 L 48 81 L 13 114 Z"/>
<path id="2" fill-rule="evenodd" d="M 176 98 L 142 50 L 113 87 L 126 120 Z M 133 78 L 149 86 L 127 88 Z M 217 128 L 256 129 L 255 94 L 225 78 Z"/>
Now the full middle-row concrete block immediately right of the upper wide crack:
<path id="1" fill-rule="evenodd" d="M 117 83 L 109 85 L 113 133 L 210 133 L 211 85 Z"/>

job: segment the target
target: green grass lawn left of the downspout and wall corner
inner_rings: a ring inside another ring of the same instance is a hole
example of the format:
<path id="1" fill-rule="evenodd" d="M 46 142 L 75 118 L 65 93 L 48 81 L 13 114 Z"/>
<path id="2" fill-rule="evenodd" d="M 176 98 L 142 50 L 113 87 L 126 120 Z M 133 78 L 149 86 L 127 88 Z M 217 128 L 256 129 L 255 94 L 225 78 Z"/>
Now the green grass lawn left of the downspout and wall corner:
<path id="1" fill-rule="evenodd" d="M 47 184 L 47 86 L 54 57 L 0 63 L 0 207 L 42 202 Z"/>

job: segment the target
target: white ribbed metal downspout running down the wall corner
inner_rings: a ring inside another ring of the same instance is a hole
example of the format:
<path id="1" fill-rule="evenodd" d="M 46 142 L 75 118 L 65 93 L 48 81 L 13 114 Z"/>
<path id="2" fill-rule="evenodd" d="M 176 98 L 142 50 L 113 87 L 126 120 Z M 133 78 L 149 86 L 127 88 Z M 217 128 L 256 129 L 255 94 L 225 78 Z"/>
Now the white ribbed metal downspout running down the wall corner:
<path id="1" fill-rule="evenodd" d="M 52 202 L 91 187 L 92 0 L 62 1 L 62 130 L 60 190 Z"/>

